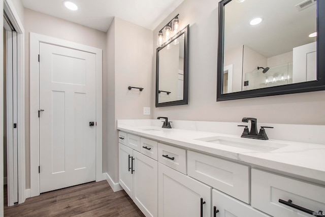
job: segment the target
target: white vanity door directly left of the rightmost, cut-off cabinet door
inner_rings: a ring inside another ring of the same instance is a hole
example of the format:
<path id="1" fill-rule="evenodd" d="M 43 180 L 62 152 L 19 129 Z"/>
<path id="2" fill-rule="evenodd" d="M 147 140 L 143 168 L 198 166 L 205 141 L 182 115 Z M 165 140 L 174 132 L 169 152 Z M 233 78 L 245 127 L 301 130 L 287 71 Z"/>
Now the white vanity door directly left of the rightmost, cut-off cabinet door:
<path id="1" fill-rule="evenodd" d="M 201 205 L 203 198 L 203 205 Z M 201 207 L 203 215 L 201 215 Z M 158 216 L 211 216 L 211 188 L 158 163 Z"/>

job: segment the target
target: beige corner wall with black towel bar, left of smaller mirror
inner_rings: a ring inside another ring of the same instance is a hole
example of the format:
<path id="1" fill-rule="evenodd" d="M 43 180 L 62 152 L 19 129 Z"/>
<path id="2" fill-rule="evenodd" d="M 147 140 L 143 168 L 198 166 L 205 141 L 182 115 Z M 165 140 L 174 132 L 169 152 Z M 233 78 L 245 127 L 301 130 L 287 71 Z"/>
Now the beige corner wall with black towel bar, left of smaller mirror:
<path id="1" fill-rule="evenodd" d="M 150 107 L 152 94 L 152 31 L 115 17 L 107 35 L 108 83 L 112 85 L 108 104 L 115 113 L 109 113 L 108 174 L 118 182 L 116 120 L 150 118 L 143 115 L 143 107 Z M 128 86 L 144 89 L 128 90 Z"/>

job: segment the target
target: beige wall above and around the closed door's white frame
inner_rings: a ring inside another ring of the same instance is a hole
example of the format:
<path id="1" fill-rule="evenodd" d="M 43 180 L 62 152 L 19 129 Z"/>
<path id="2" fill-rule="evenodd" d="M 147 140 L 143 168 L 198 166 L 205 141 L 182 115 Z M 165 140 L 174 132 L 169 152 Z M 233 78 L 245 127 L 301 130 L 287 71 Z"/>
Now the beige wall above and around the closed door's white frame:
<path id="1" fill-rule="evenodd" d="M 37 33 L 58 39 L 103 49 L 103 78 L 107 77 L 106 33 L 66 20 L 55 18 L 43 13 L 25 9 L 25 139 L 26 139 L 26 189 L 30 187 L 30 153 L 29 153 L 29 33 Z M 107 117 L 106 80 L 103 79 L 103 117 Z M 103 121 L 105 122 L 105 121 Z M 107 149 L 107 125 L 103 123 L 103 149 Z M 103 171 L 107 170 L 107 157 L 103 152 Z"/>

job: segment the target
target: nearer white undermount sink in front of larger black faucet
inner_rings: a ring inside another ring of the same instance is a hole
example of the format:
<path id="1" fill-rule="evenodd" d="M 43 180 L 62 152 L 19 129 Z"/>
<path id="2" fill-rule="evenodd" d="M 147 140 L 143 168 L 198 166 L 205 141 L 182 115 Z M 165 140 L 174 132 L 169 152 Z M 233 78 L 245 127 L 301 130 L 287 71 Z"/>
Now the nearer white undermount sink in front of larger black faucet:
<path id="1" fill-rule="evenodd" d="M 273 151 L 287 146 L 286 144 L 274 143 L 265 140 L 230 138 L 223 136 L 200 138 L 196 140 L 262 152 Z"/>

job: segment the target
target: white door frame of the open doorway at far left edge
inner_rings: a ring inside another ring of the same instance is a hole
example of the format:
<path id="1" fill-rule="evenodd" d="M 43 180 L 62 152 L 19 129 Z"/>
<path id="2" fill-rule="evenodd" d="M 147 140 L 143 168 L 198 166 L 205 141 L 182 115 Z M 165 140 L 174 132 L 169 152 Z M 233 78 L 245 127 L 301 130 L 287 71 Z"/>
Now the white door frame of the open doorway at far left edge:
<path id="1" fill-rule="evenodd" d="M 17 171 L 18 171 L 18 203 L 23 203 L 26 199 L 25 194 L 25 73 L 24 73 L 24 65 L 25 65 L 25 31 L 23 25 L 20 21 L 18 13 L 12 3 L 11 0 L 4 0 L 0 1 L 3 5 L 3 10 L 0 8 L 0 15 L 3 19 L 3 11 L 6 12 L 9 20 L 11 21 L 12 25 L 14 26 L 17 32 L 17 154 L 18 154 L 18 162 L 17 162 Z M 3 20 L 1 19 L 1 23 L 3 24 Z M 3 28 L 2 28 L 3 29 Z M 3 36 L 3 34 L 2 34 Z M 1 37 L 2 38 L 2 37 Z M 3 41 L 3 40 L 2 40 Z M 3 52 L 2 52 L 3 53 Z M 3 61 L 3 57 L 1 58 Z M 2 75 L 3 77 L 3 75 Z M 3 84 L 3 83 L 2 83 Z M 3 100 L 2 100 L 3 101 Z M 3 104 L 2 104 L 3 105 Z M 3 109 L 3 106 L 1 106 Z M 1 111 L 1 115 L 3 114 L 3 110 Z M 3 130 L 1 132 L 1 135 Z M 3 144 L 3 143 L 2 143 Z M 3 150 L 3 145 L 1 145 L 1 149 Z M 13 154 L 13 153 L 12 153 Z M 3 154 L 1 154 L 3 161 Z M 8 162 L 10 163 L 10 162 Z M 3 164 L 1 164 L 1 179 L 3 182 Z M 8 171 L 13 170 L 14 165 L 8 164 Z M 2 186 L 3 184 L 1 184 Z M 2 200 L 1 202 L 1 214 L 3 214 L 3 195 L 1 194 L 0 197 Z M 10 205 L 10 204 L 9 204 Z"/>

